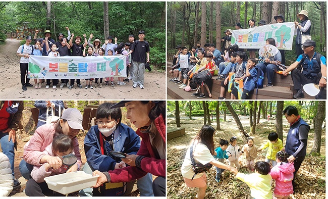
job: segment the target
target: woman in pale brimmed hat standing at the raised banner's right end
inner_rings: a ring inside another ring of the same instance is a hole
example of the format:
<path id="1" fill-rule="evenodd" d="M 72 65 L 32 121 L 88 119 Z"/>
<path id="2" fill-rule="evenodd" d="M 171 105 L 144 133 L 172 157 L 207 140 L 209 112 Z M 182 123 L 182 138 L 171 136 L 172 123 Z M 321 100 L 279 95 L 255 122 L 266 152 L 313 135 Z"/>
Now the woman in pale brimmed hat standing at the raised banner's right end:
<path id="1" fill-rule="evenodd" d="M 310 35 L 311 31 L 311 21 L 309 20 L 307 16 L 307 11 L 301 10 L 300 13 L 297 14 L 297 17 L 301 20 L 301 22 L 295 21 L 295 33 L 296 36 L 295 42 L 296 42 L 296 57 L 303 54 L 302 50 L 302 35 Z"/>

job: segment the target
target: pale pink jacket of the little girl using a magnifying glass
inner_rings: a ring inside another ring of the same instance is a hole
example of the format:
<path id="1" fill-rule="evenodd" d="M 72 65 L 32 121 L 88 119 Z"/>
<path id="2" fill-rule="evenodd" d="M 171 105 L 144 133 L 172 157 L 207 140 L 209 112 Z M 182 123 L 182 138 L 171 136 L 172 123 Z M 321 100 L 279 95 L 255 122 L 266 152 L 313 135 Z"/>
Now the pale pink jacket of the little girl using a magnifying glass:
<path id="1" fill-rule="evenodd" d="M 45 148 L 45 151 L 43 152 L 44 155 L 53 156 L 51 146 L 52 145 L 50 144 Z M 34 165 L 33 170 L 31 172 L 31 176 L 35 182 L 40 183 L 40 182 L 44 182 L 45 177 L 66 173 L 67 170 L 68 170 L 67 166 L 62 165 L 62 167 L 59 169 L 53 170 L 50 168 L 49 171 L 46 172 L 44 168 L 44 164 L 42 166 Z"/>

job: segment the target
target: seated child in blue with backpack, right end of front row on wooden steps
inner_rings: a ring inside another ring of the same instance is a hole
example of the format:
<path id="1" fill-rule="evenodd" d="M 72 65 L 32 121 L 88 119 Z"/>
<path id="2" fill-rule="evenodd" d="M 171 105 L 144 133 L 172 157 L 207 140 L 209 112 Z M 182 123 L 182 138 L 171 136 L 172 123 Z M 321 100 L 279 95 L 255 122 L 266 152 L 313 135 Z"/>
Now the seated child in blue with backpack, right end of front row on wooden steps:
<path id="1" fill-rule="evenodd" d="M 246 65 L 246 80 L 244 83 L 243 94 L 241 96 L 242 100 L 250 98 L 250 92 L 254 90 L 256 83 L 257 70 L 254 69 L 257 61 L 255 58 L 249 58 Z"/>

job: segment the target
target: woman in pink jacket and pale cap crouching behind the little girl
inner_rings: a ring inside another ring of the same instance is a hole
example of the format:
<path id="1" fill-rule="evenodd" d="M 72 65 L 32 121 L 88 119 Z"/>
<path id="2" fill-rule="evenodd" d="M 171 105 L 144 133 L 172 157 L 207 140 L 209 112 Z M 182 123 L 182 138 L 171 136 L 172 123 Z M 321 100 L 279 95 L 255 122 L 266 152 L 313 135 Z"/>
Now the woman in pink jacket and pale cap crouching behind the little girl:
<path id="1" fill-rule="evenodd" d="M 24 146 L 24 159 L 19 164 L 19 170 L 22 176 L 25 179 L 31 179 L 30 173 L 33 170 L 33 165 L 40 166 L 47 162 L 53 169 L 58 169 L 62 166 L 61 158 L 47 156 L 42 153 L 46 146 L 52 142 L 55 132 L 68 135 L 74 143 L 74 154 L 78 161 L 67 172 L 80 170 L 82 161 L 79 142 L 76 138 L 80 130 L 83 131 L 82 115 L 79 110 L 73 108 L 66 109 L 60 120 L 37 128 L 30 141 Z"/>

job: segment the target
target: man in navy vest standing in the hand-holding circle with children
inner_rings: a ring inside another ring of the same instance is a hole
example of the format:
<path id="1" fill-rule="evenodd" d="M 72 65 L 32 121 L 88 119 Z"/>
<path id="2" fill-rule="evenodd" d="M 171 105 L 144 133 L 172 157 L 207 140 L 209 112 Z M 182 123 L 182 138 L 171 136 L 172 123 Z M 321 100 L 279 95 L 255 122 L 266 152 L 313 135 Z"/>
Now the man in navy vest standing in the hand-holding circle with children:
<path id="1" fill-rule="evenodd" d="M 290 124 L 286 145 L 283 150 L 289 155 L 288 162 L 294 162 L 295 172 L 292 183 L 295 190 L 295 176 L 306 155 L 307 137 L 310 126 L 301 118 L 297 108 L 294 106 L 286 107 L 283 115 L 285 115 Z"/>

